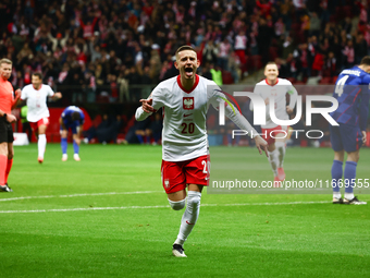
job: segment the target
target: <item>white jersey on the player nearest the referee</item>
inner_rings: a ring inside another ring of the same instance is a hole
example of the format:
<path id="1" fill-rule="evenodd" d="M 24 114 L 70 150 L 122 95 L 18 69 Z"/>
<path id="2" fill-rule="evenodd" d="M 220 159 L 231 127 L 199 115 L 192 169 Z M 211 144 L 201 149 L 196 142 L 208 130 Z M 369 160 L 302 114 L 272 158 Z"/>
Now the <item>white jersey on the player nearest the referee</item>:
<path id="1" fill-rule="evenodd" d="M 27 121 L 37 122 L 45 117 L 49 117 L 47 107 L 47 97 L 52 97 L 54 92 L 49 85 L 41 84 L 39 89 L 35 89 L 33 84 L 25 86 L 22 89 L 21 99 L 27 100 Z"/>

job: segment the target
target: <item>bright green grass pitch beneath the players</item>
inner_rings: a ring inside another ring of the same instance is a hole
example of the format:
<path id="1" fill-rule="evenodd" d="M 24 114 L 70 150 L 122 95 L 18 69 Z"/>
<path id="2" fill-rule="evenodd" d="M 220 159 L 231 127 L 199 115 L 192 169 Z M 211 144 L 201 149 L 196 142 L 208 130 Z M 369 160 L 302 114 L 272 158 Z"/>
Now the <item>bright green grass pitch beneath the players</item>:
<path id="1" fill-rule="evenodd" d="M 81 162 L 69 150 L 62 162 L 49 144 L 38 165 L 37 145 L 15 148 L 14 192 L 0 194 L 0 277 L 370 277 L 369 205 L 332 205 L 330 194 L 205 192 L 188 257 L 176 258 L 183 210 L 168 207 L 161 147 L 83 145 Z M 272 178 L 255 148 L 214 147 L 211 158 L 225 169 L 242 161 L 250 179 Z M 332 158 L 329 148 L 288 148 L 287 179 L 330 179 Z M 357 178 L 370 178 L 369 165 L 362 149 Z M 320 201 L 328 203 L 308 203 Z"/>

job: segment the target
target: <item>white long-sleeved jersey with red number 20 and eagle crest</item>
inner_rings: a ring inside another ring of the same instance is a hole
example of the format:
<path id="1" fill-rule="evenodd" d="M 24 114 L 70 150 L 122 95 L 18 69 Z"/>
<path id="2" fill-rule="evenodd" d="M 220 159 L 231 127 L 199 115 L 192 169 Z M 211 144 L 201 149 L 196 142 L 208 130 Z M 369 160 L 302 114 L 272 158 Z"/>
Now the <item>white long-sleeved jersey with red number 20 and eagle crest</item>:
<path id="1" fill-rule="evenodd" d="M 206 118 L 209 105 L 215 109 L 224 105 L 224 94 L 213 82 L 196 75 L 190 90 L 181 85 L 180 75 L 161 82 L 151 93 L 152 107 L 163 107 L 162 158 L 165 161 L 184 161 L 208 154 Z M 141 107 L 136 110 L 136 120 L 143 121 L 150 113 Z M 249 134 L 257 132 L 249 122 L 227 105 L 225 116 Z"/>

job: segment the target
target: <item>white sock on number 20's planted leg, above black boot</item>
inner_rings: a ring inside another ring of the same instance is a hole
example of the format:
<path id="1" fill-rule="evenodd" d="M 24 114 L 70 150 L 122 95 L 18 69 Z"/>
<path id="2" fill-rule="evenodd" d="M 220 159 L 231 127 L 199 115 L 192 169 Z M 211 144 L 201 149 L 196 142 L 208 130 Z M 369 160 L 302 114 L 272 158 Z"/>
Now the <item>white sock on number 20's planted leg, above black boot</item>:
<path id="1" fill-rule="evenodd" d="M 200 197 L 200 192 L 189 191 L 187 193 L 187 206 L 183 218 L 181 219 L 180 231 L 174 244 L 183 245 L 187 237 L 190 234 L 199 216 Z"/>

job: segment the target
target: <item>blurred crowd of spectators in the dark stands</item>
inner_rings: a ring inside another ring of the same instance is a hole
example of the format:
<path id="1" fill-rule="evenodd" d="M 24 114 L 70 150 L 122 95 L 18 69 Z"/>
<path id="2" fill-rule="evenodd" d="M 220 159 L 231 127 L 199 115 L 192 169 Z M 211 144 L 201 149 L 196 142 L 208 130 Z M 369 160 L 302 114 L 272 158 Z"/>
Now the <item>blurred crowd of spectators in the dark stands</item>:
<path id="1" fill-rule="evenodd" d="M 199 74 L 218 84 L 239 83 L 270 60 L 293 83 L 332 83 L 369 53 L 368 2 L 2 0 L 0 57 L 14 62 L 15 87 L 42 72 L 64 105 L 137 101 L 177 74 L 174 52 L 185 44 Z"/>

